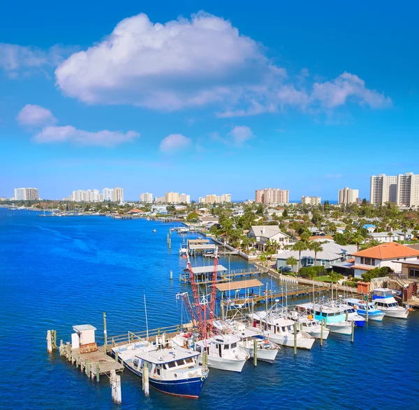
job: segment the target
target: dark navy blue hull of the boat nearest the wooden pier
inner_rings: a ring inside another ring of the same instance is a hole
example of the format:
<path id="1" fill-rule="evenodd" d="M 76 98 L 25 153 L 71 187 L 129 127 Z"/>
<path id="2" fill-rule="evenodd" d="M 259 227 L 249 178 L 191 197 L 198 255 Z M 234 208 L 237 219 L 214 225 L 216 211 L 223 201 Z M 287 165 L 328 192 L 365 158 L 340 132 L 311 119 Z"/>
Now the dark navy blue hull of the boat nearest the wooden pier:
<path id="1" fill-rule="evenodd" d="M 136 376 L 142 379 L 142 374 L 135 370 L 130 365 L 124 363 L 124 365 L 131 370 Z M 149 385 L 156 390 L 163 393 L 179 397 L 188 397 L 191 399 L 198 399 L 200 391 L 202 390 L 207 376 L 192 377 L 191 379 L 180 379 L 180 380 L 159 380 L 149 377 Z"/>

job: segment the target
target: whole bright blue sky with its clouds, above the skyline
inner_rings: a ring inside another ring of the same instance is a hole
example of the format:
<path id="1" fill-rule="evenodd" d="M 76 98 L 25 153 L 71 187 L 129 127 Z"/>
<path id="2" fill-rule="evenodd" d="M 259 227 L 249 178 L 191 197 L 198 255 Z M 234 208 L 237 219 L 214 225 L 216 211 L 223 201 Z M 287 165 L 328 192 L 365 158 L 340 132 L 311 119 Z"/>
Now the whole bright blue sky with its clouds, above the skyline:
<path id="1" fill-rule="evenodd" d="M 416 2 L 0 7 L 0 197 L 369 199 L 419 174 Z"/>

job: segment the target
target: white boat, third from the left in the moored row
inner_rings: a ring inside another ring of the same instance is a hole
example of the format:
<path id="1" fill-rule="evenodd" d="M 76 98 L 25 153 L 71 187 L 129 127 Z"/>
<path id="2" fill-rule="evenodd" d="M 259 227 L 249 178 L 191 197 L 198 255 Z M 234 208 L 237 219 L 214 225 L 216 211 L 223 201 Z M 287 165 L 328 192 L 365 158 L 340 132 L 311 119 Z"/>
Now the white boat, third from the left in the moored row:
<path id="1" fill-rule="evenodd" d="M 281 350 L 281 347 L 277 344 L 268 340 L 264 335 L 260 335 L 257 331 L 246 328 L 246 325 L 240 321 L 228 321 L 226 325 L 222 324 L 221 321 L 214 321 L 214 327 L 232 331 L 233 335 L 240 338 L 240 346 L 247 351 L 251 358 L 254 358 L 255 340 L 258 360 L 273 363 L 278 351 Z"/>

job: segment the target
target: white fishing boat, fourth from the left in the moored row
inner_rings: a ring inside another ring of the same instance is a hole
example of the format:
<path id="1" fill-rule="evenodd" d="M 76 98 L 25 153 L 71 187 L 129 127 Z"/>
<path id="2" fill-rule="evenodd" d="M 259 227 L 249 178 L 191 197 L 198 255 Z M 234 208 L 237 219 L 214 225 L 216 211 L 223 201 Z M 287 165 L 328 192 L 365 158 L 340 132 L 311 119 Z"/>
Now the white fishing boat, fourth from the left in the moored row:
<path id="1" fill-rule="evenodd" d="M 282 313 L 270 310 L 249 314 L 250 328 L 282 346 L 294 347 L 294 321 L 286 319 Z M 316 339 L 304 331 L 297 330 L 297 348 L 311 349 Z"/>

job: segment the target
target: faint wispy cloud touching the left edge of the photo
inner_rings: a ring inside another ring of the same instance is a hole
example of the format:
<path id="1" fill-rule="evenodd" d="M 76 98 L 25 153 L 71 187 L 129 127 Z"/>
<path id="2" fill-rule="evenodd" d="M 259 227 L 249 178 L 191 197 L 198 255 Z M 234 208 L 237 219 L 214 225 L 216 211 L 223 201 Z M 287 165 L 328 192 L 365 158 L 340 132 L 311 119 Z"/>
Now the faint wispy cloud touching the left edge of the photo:
<path id="1" fill-rule="evenodd" d="M 39 47 L 17 44 L 0 43 L 0 69 L 9 77 L 29 75 L 34 72 L 43 72 L 57 64 L 75 51 L 75 47 L 62 47 L 54 45 L 48 50 Z"/>

